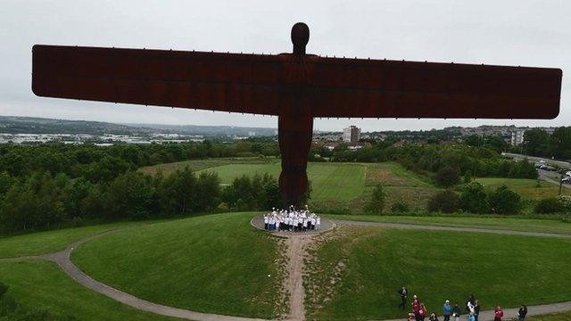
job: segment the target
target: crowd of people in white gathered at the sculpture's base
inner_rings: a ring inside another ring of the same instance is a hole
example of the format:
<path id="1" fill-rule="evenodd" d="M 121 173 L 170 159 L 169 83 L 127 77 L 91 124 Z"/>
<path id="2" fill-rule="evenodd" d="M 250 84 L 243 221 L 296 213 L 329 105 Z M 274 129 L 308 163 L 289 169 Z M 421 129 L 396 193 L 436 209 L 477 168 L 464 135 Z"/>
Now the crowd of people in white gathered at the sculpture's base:
<path id="1" fill-rule="evenodd" d="M 307 206 L 305 210 L 296 210 L 290 206 L 287 210 L 272 208 L 271 213 L 264 214 L 264 229 L 270 232 L 308 232 L 319 231 L 321 218 L 311 213 Z"/>

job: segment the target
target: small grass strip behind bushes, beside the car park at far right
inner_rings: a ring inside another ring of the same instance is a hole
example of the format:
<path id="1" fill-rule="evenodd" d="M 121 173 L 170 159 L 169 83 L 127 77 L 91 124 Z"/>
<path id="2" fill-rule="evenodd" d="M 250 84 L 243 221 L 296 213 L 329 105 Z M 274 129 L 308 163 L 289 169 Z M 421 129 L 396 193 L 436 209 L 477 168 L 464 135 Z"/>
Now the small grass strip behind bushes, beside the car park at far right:
<path id="1" fill-rule="evenodd" d="M 497 188 L 501 185 L 506 185 L 528 200 L 541 200 L 559 195 L 558 185 L 536 179 L 484 177 L 475 178 L 475 181 L 486 188 Z M 564 188 L 563 193 L 571 194 L 571 190 Z"/>

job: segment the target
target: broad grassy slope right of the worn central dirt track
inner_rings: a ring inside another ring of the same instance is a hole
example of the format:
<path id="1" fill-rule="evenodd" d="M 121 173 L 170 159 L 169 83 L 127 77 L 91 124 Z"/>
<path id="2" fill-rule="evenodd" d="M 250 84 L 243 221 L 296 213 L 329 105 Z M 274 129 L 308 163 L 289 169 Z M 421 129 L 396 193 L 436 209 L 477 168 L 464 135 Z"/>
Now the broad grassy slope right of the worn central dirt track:
<path id="1" fill-rule="evenodd" d="M 313 268 L 331 271 L 343 257 L 346 267 L 331 300 L 306 309 L 319 319 L 403 317 L 397 309 L 402 284 L 431 311 L 439 311 L 443 300 L 462 302 L 471 292 L 483 309 L 571 297 L 562 282 L 571 278 L 569 240 L 353 227 L 317 255 Z M 330 284 L 327 277 L 311 278 L 318 289 Z"/>

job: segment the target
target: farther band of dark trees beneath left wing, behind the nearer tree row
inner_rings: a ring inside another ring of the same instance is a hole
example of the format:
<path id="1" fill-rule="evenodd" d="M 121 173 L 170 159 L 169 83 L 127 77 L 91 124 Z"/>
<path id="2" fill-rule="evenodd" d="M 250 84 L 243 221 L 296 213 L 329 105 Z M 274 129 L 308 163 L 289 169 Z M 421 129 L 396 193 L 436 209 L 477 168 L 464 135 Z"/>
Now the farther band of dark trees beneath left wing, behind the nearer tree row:
<path id="1" fill-rule="evenodd" d="M 277 156 L 277 143 L 240 141 L 237 143 L 184 144 L 38 144 L 0 145 L 0 169 L 12 177 L 26 177 L 46 171 L 53 176 L 84 177 L 90 182 L 110 182 L 121 173 L 159 163 L 217 157 Z"/>

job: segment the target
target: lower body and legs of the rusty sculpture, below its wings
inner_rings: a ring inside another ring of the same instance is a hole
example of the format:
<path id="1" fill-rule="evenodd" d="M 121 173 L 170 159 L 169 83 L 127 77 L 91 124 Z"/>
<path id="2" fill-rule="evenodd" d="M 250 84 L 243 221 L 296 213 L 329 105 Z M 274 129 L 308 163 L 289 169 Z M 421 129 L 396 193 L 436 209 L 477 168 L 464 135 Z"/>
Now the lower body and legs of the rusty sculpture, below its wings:
<path id="1" fill-rule="evenodd" d="M 282 172 L 279 187 L 284 208 L 300 208 L 307 191 L 307 160 L 311 147 L 313 118 L 309 115 L 282 115 L 278 119 L 279 150 Z"/>

